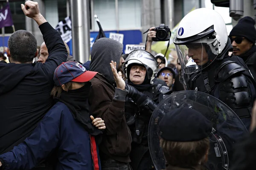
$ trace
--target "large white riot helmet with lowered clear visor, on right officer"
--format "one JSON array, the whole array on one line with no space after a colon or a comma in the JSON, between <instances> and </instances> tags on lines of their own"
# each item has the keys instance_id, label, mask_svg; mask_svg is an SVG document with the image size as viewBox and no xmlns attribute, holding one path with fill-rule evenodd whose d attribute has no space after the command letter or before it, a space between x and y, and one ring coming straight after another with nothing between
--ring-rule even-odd
<instances>
[{"instance_id":1,"label":"large white riot helmet with lowered clear visor, on right officer","mask_svg":"<svg viewBox=\"0 0 256 170\"><path fill-rule=\"evenodd\" d=\"M199 8L187 14L180 21L173 39L184 73L197 72L210 65L221 56L227 40L226 24L218 12ZM190 57L195 67L192 69L189 64L186 69Z\"/></svg>"}]
</instances>

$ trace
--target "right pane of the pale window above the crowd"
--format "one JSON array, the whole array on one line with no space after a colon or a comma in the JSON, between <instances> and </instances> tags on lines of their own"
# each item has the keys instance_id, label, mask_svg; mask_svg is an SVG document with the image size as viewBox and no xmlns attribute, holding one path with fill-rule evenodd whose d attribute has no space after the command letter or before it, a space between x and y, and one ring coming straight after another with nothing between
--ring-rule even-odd
<instances>
[{"instance_id":1,"label":"right pane of the pale window above the crowd","mask_svg":"<svg viewBox=\"0 0 256 170\"><path fill-rule=\"evenodd\" d=\"M141 1L140 0L118 0L119 28L141 27Z\"/></svg>"}]
</instances>

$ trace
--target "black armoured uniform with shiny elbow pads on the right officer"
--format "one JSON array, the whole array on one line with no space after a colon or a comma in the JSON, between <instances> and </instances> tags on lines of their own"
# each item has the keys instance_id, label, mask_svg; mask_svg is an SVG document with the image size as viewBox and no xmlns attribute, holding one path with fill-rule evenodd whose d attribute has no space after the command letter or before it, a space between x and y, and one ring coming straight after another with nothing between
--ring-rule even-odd
<instances>
[{"instance_id":1,"label":"black armoured uniform with shiny elbow pads on the right officer","mask_svg":"<svg viewBox=\"0 0 256 170\"><path fill-rule=\"evenodd\" d=\"M210 94L227 104L248 129L256 82L243 59L228 56L232 48L229 39L225 48L222 56L189 76L188 86L190 90Z\"/></svg>"}]
</instances>

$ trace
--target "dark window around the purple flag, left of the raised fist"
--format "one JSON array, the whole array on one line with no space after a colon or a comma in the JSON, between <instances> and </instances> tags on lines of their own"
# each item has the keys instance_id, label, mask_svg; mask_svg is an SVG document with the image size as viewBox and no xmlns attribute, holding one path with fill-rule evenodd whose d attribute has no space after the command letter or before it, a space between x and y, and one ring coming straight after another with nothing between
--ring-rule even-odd
<instances>
[{"instance_id":1,"label":"dark window around the purple flag, left of the raised fist","mask_svg":"<svg viewBox=\"0 0 256 170\"><path fill-rule=\"evenodd\" d=\"M13 20L13 24L15 26L15 30L20 30L20 29L24 29L26 30L26 24L25 24L25 15L20 7L20 4L24 3L24 0L20 0L20 1L9 1L10 4L10 8L11 8L11 13L12 13L12 20ZM1 6L5 6L6 2L1 2L0 3ZM13 33L13 29L12 27L5 27L5 34L12 34ZM0 29L0 34L2 34L2 29Z\"/></svg>"}]
</instances>

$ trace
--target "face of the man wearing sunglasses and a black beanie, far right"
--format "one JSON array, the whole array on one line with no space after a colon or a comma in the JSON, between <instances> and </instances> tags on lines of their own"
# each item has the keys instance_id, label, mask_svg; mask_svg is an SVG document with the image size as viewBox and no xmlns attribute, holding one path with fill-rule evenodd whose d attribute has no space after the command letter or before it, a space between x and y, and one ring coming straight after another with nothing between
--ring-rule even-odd
<instances>
[{"instance_id":1,"label":"face of the man wearing sunglasses and a black beanie, far right","mask_svg":"<svg viewBox=\"0 0 256 170\"><path fill-rule=\"evenodd\" d=\"M240 36L232 36L230 37L232 46L233 46L233 55L240 56L244 54L246 51L250 50L253 46L253 43L248 41L244 37Z\"/></svg>"}]
</instances>

